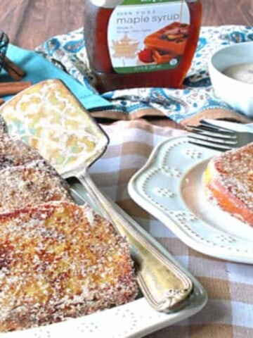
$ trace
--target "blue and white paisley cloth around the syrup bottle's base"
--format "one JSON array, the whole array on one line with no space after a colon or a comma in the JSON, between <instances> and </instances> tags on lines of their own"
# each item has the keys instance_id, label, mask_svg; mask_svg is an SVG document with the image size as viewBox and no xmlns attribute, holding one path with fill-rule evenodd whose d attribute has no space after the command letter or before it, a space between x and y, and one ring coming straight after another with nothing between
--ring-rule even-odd
<instances>
[{"instance_id":1,"label":"blue and white paisley cloth around the syrup bottle's base","mask_svg":"<svg viewBox=\"0 0 253 338\"><path fill-rule=\"evenodd\" d=\"M138 88L106 92L101 96L113 106L108 114L120 111L131 115L136 111L155 108L179 123L206 109L230 109L227 104L214 96L208 73L208 61L214 51L221 47L247 41L253 41L253 27L242 25L202 27L192 65L183 82L183 89ZM58 63L86 88L96 92L92 87L83 28L66 35L52 37L36 50L52 62Z\"/></svg>"}]
</instances>

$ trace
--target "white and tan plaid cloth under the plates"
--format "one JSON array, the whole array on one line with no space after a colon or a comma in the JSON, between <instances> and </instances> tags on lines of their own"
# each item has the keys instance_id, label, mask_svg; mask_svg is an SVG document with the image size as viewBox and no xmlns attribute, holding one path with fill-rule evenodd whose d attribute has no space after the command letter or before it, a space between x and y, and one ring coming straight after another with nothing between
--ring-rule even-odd
<instances>
[{"instance_id":1,"label":"white and tan plaid cloth under the plates","mask_svg":"<svg viewBox=\"0 0 253 338\"><path fill-rule=\"evenodd\" d=\"M186 266L209 296L202 311L146 338L253 337L253 266L222 261L190 249L127 193L129 179L144 165L153 147L183 131L144 120L118 121L102 127L110 137L110 145L90 169L94 182Z\"/></svg>"}]
</instances>

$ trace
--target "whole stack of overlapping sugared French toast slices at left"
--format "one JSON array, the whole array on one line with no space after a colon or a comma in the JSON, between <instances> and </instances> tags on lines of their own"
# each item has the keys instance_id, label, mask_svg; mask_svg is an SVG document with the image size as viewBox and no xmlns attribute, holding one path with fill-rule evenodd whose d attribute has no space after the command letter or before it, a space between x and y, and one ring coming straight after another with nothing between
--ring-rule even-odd
<instances>
[{"instance_id":1,"label":"whole stack of overlapping sugared French toast slices at left","mask_svg":"<svg viewBox=\"0 0 253 338\"><path fill-rule=\"evenodd\" d=\"M78 206L49 163L0 123L0 332L56 323L136 298L129 244Z\"/></svg>"}]
</instances>

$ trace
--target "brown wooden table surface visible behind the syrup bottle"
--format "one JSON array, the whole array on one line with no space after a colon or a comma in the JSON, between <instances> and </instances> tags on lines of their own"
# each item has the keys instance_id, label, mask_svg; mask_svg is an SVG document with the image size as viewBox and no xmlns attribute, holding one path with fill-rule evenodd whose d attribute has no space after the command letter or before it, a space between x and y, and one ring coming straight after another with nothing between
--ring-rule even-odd
<instances>
[{"instance_id":1,"label":"brown wooden table surface visible behind the syrup bottle","mask_svg":"<svg viewBox=\"0 0 253 338\"><path fill-rule=\"evenodd\" d=\"M233 3L233 5L231 5ZM253 25L252 0L202 0L202 25ZM84 0L1 0L0 30L27 49L83 25Z\"/></svg>"}]
</instances>

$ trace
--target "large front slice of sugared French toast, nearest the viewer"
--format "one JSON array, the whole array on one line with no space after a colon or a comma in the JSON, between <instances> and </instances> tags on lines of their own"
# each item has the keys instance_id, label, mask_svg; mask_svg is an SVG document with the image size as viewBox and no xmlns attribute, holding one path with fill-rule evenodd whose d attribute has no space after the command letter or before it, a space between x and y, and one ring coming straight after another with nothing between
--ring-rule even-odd
<instances>
[{"instance_id":1,"label":"large front slice of sugared French toast, nearest the viewer","mask_svg":"<svg viewBox=\"0 0 253 338\"><path fill-rule=\"evenodd\" d=\"M0 215L0 331L135 299L126 239L91 208L50 202Z\"/></svg>"}]
</instances>

